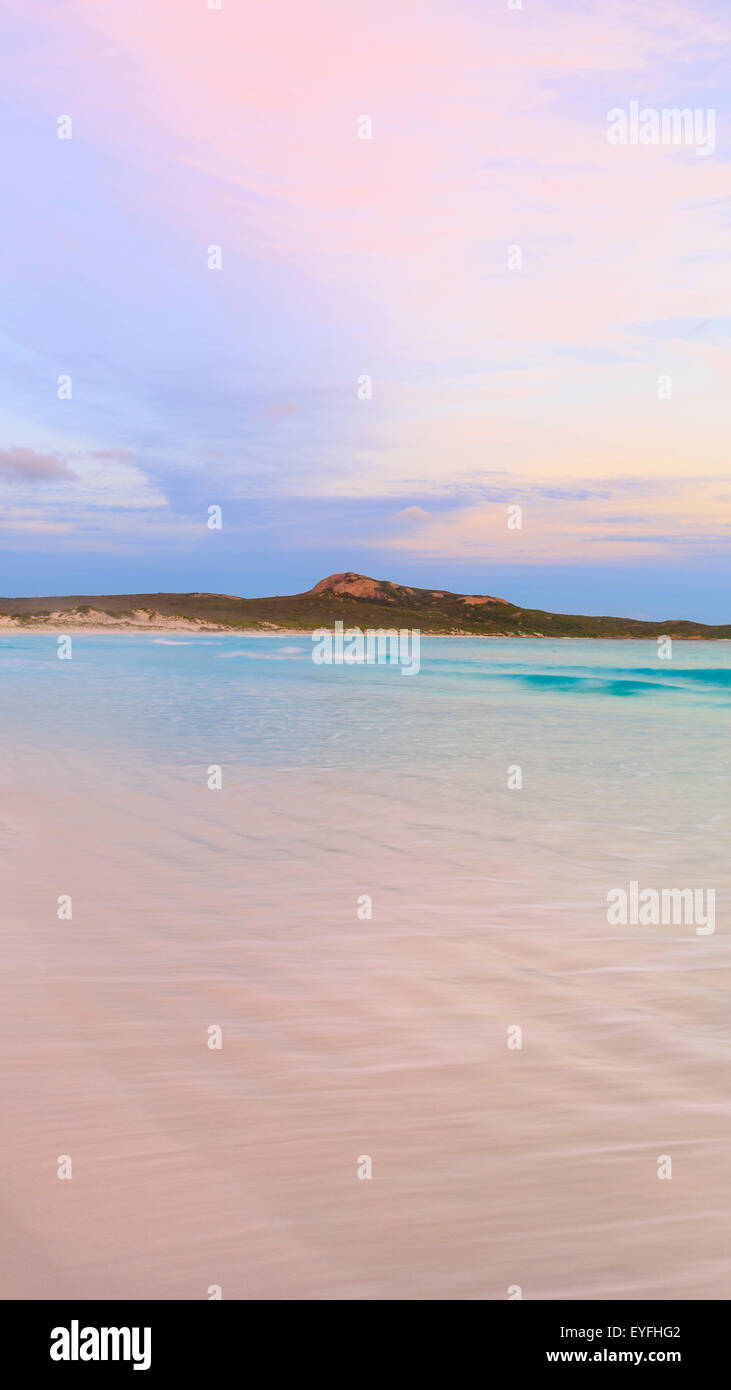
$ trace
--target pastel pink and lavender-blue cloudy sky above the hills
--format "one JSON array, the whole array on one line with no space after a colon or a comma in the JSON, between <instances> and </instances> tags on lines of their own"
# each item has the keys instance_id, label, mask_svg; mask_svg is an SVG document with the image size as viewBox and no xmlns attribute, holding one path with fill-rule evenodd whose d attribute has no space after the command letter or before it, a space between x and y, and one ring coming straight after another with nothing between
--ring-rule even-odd
<instances>
[{"instance_id":1,"label":"pastel pink and lavender-blue cloudy sky above the hills","mask_svg":"<svg viewBox=\"0 0 731 1390\"><path fill-rule=\"evenodd\" d=\"M0 24L0 592L731 621L727 0L210 4Z\"/></svg>"}]
</instances>

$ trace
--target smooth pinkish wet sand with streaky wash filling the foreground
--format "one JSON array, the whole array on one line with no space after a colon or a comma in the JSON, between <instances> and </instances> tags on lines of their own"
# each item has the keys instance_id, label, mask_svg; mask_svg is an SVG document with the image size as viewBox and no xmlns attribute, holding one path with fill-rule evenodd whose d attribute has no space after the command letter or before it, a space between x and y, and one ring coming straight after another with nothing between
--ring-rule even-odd
<instances>
[{"instance_id":1,"label":"smooth pinkish wet sand with streaky wash filling the foreground","mask_svg":"<svg viewBox=\"0 0 731 1390\"><path fill-rule=\"evenodd\" d=\"M731 1295L723 922L609 927L606 863L375 773L50 758L3 774L3 1298Z\"/></svg>"}]
</instances>

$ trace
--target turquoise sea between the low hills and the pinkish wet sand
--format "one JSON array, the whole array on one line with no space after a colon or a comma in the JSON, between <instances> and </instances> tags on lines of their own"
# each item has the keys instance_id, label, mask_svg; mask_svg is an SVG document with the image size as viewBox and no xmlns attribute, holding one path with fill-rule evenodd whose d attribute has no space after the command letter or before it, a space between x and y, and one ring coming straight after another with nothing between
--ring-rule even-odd
<instances>
[{"instance_id":1,"label":"turquoise sea between the low hills and the pinkish wet sand","mask_svg":"<svg viewBox=\"0 0 731 1390\"><path fill-rule=\"evenodd\" d=\"M206 769L334 773L442 835L573 863L725 865L731 645L427 638L421 670L315 666L311 639L0 637L6 764L50 784L90 755L111 788ZM520 767L520 795L509 769ZM110 791L111 795L111 791ZM700 880L705 881L705 880Z\"/></svg>"}]
</instances>

